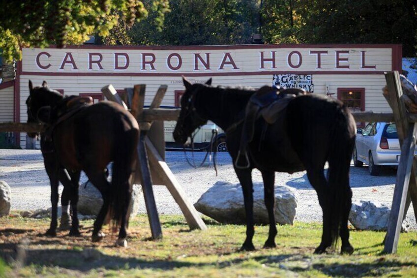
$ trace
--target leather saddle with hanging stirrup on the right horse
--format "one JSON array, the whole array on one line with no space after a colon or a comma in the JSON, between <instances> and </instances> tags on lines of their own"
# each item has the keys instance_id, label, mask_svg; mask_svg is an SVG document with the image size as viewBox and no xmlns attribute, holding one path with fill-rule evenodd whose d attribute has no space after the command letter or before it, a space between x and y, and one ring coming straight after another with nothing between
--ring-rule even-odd
<instances>
[{"instance_id":1,"label":"leather saddle with hanging stirrup on the right horse","mask_svg":"<svg viewBox=\"0 0 417 278\"><path fill-rule=\"evenodd\" d=\"M250 166L247 145L253 139L256 120L262 117L268 124L275 123L288 103L296 96L303 94L306 92L302 89L264 86L249 98L245 109L238 157L235 161L236 168L247 169Z\"/></svg>"}]
</instances>

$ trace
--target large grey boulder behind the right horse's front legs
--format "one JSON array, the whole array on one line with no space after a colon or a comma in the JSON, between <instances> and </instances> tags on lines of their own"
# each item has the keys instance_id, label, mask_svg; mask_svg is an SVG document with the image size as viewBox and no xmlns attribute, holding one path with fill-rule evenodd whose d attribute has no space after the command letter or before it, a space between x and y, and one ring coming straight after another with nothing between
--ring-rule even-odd
<instances>
[{"instance_id":1,"label":"large grey boulder behind the right horse's front legs","mask_svg":"<svg viewBox=\"0 0 417 278\"><path fill-rule=\"evenodd\" d=\"M269 224L264 201L264 184L253 184L253 216L255 223ZM197 211L221 223L245 224L246 215L240 184L217 182L194 204ZM288 186L275 186L275 221L293 224L297 197Z\"/></svg>"}]
</instances>

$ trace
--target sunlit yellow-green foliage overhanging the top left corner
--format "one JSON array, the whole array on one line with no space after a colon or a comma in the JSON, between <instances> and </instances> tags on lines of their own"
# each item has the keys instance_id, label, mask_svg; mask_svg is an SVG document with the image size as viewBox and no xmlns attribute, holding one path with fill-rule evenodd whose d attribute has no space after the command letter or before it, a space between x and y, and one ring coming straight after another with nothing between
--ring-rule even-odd
<instances>
[{"instance_id":1,"label":"sunlit yellow-green foliage overhanging the top left corner","mask_svg":"<svg viewBox=\"0 0 417 278\"><path fill-rule=\"evenodd\" d=\"M169 7L168 0L153 2L160 9L159 15ZM148 15L139 0L2 0L0 3L0 48L6 61L20 60L20 47L80 44L95 33L106 37L117 25L116 10L129 26Z\"/></svg>"}]
</instances>

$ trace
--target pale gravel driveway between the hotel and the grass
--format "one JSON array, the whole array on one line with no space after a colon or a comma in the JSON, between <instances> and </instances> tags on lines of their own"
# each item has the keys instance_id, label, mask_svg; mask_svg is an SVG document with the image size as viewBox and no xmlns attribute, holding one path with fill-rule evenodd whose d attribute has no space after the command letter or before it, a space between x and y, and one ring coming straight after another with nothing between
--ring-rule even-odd
<instances>
[{"instance_id":1,"label":"pale gravel driveway between the hotel and the grass","mask_svg":"<svg viewBox=\"0 0 417 278\"><path fill-rule=\"evenodd\" d=\"M202 161L204 154L194 153L196 162ZM191 157L191 154L188 156ZM217 154L217 177L212 163L207 162L203 167L194 169L188 165L182 152L167 152L166 161L192 203L195 203L216 181L238 183L228 153ZM12 210L35 210L51 206L49 179L39 150L0 150L0 180L4 180L11 187ZM87 178L83 175L81 182L85 181ZM253 181L262 182L261 173L257 170L253 172ZM366 166L355 168L352 164L350 181L353 201L378 201L390 206L395 184L394 169L383 169L380 176L373 177L368 174ZM309 184L306 172L276 173L275 184L288 185L297 190L296 220L304 222L322 220L317 194ZM61 190L62 186L60 192ZM181 214L179 206L165 186L154 186L154 194L160 214ZM144 202L142 204L140 212L144 213L145 204ZM408 217L411 227L416 229L412 208L408 211Z\"/></svg>"}]
</instances>

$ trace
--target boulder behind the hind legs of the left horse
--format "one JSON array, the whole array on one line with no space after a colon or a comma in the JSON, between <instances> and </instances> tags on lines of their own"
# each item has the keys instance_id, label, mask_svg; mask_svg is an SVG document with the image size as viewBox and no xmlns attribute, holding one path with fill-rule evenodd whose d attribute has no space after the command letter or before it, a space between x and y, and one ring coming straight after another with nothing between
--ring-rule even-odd
<instances>
[{"instance_id":1,"label":"boulder behind the hind legs of the left horse","mask_svg":"<svg viewBox=\"0 0 417 278\"><path fill-rule=\"evenodd\" d=\"M103 198L100 191L90 182L80 185L78 199L78 212L82 215L97 216L101 206L103 205ZM141 185L133 185L132 199L128 211L129 216L135 216L139 212L139 204L142 194Z\"/></svg>"}]
</instances>

